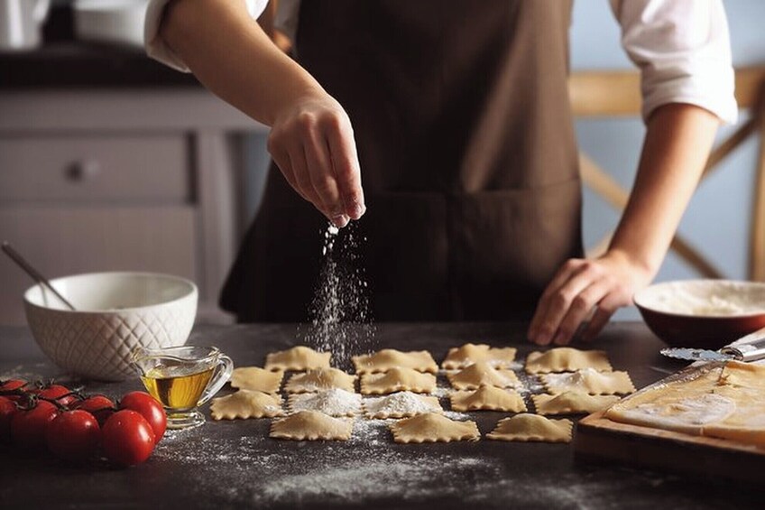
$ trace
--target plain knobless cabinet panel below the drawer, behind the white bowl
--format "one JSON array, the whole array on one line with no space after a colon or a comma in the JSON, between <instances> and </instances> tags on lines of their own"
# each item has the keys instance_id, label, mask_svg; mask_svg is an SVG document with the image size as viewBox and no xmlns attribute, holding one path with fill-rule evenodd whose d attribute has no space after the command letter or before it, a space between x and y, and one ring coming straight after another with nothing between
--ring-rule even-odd
<instances>
[{"instance_id":1,"label":"plain knobless cabinet panel below the drawer, behind the white bowl","mask_svg":"<svg viewBox=\"0 0 765 510\"><path fill-rule=\"evenodd\" d=\"M0 209L0 239L42 274L149 271L198 281L196 211L172 207ZM0 255L0 324L23 324L23 292L33 282Z\"/></svg>"}]
</instances>

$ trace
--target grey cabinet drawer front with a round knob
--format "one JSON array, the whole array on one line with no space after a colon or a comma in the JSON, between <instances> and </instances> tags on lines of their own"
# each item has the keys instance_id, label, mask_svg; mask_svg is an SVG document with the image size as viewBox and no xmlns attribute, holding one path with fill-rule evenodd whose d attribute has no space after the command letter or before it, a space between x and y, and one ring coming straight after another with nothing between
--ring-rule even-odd
<instances>
[{"instance_id":1,"label":"grey cabinet drawer front with a round knob","mask_svg":"<svg viewBox=\"0 0 765 510\"><path fill-rule=\"evenodd\" d=\"M0 138L0 201L189 201L182 134Z\"/></svg>"}]
</instances>

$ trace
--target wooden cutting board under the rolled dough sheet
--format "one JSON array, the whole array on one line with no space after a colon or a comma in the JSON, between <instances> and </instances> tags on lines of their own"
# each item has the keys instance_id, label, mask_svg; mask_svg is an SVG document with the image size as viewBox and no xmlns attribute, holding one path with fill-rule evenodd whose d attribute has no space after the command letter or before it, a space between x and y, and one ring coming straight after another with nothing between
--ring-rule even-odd
<instances>
[{"instance_id":1,"label":"wooden cutting board under the rolled dough sheet","mask_svg":"<svg viewBox=\"0 0 765 510\"><path fill-rule=\"evenodd\" d=\"M765 450L732 440L612 422L604 412L576 425L577 460L616 462L701 478L762 483Z\"/></svg>"}]
</instances>

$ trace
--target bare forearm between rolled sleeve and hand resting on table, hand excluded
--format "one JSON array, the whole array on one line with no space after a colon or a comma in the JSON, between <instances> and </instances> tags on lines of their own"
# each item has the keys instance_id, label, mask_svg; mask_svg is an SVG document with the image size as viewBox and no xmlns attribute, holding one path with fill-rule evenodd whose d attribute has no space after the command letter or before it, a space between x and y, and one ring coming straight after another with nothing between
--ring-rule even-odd
<instances>
[{"instance_id":1,"label":"bare forearm between rolled sleeve and hand resting on table, hand excluded","mask_svg":"<svg viewBox=\"0 0 765 510\"><path fill-rule=\"evenodd\" d=\"M659 271L696 190L719 121L707 110L670 104L650 117L637 178L610 250L649 274Z\"/></svg>"}]
</instances>

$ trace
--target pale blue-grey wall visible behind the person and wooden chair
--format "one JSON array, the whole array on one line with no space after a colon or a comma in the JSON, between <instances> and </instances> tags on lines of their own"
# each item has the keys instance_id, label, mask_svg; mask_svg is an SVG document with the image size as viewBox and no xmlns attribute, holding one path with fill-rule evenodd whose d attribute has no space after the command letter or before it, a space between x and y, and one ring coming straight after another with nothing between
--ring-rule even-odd
<instances>
[{"instance_id":1,"label":"pale blue-grey wall visible behind the person and wooden chair","mask_svg":"<svg viewBox=\"0 0 765 510\"><path fill-rule=\"evenodd\" d=\"M695 1L695 0L679 0ZM737 66L758 64L765 60L765 39L762 22L765 2L761 0L726 0L733 46L733 61ZM571 58L575 70L630 69L619 44L619 26L613 18L607 0L578 0L575 2L574 23L571 27ZM742 112L739 122L746 118ZM724 126L721 134L730 133L734 126ZM634 178L643 135L639 119L579 121L576 133L581 147L613 177L629 187ZM268 162L264 150L265 137L253 136L247 141L247 153L253 172L248 179L250 197L248 214L253 214L263 189L263 169ZM696 191L680 225L680 232L699 248L726 277L746 277L747 239L751 210L751 186L757 144L749 140L724 162ZM585 190L585 245L593 246L616 226L618 214L593 192ZM692 269L673 254L661 267L657 281L698 277ZM636 319L634 309L617 314L619 319Z\"/></svg>"}]
</instances>

